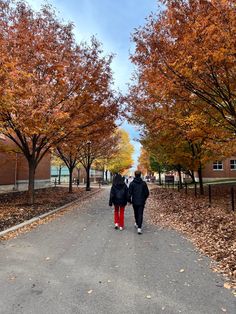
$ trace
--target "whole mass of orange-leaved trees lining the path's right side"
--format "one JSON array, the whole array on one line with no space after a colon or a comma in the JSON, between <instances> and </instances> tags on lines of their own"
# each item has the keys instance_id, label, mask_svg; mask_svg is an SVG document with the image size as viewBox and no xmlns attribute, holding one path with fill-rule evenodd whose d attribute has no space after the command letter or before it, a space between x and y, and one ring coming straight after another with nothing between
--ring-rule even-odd
<instances>
[{"instance_id":1,"label":"whole mass of orange-leaved trees lining the path's right side","mask_svg":"<svg viewBox=\"0 0 236 314\"><path fill-rule=\"evenodd\" d=\"M137 66L131 121L161 165L194 179L212 159L236 151L236 4L166 0L133 34Z\"/></svg>"}]
</instances>

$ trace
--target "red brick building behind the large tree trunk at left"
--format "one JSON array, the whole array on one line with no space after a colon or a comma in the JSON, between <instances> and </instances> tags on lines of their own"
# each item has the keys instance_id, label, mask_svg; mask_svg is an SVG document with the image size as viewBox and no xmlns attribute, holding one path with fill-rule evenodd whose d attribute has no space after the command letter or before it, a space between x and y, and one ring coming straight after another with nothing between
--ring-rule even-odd
<instances>
[{"instance_id":1,"label":"red brick building behind the large tree trunk at left","mask_svg":"<svg viewBox=\"0 0 236 314\"><path fill-rule=\"evenodd\" d=\"M28 162L22 153L7 152L4 147L14 147L12 141L0 138L0 191L26 190L28 188ZM50 181L50 155L45 156L35 173L35 187L46 187Z\"/></svg>"}]
</instances>

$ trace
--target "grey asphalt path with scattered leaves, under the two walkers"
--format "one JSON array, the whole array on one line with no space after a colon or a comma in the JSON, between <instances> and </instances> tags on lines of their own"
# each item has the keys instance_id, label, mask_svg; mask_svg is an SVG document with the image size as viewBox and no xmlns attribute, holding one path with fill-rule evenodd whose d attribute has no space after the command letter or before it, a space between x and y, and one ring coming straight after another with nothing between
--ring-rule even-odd
<instances>
[{"instance_id":1,"label":"grey asphalt path with scattered leaves, under the two walkers","mask_svg":"<svg viewBox=\"0 0 236 314\"><path fill-rule=\"evenodd\" d=\"M2 314L236 313L209 260L174 231L113 228L107 188L78 208L0 243Z\"/></svg>"}]
</instances>

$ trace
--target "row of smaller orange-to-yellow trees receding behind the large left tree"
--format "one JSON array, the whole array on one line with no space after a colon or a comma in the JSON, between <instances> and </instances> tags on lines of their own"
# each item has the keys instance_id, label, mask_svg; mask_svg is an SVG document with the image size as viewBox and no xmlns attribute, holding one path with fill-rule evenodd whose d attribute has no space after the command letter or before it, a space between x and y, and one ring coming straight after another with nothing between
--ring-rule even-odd
<instances>
[{"instance_id":1,"label":"row of smaller orange-to-yellow trees receding behind the large left tree","mask_svg":"<svg viewBox=\"0 0 236 314\"><path fill-rule=\"evenodd\" d=\"M72 192L72 174L75 168L84 167L87 174L87 189L89 189L89 173L93 166L103 170L107 180L107 171L111 174L125 173L133 163L133 145L128 133L116 129L110 136L104 136L104 131L93 133L91 140L73 137L71 142L63 142L53 151L54 164L66 166L69 170L69 192Z\"/></svg>"}]
</instances>

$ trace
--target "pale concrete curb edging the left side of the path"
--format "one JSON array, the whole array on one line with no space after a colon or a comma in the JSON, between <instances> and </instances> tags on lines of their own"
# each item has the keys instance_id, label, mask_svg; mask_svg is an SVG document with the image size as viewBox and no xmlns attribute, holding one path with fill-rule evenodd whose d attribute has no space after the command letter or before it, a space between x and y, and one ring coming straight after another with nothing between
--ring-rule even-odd
<instances>
[{"instance_id":1,"label":"pale concrete curb edging the left side of the path","mask_svg":"<svg viewBox=\"0 0 236 314\"><path fill-rule=\"evenodd\" d=\"M63 205L61 207L55 208L55 209L53 209L53 210L51 210L51 211L49 211L49 212L47 212L45 214L42 214L42 215L39 215L37 217L31 218L29 220L26 220L26 221L20 223L19 225L16 225L16 226L10 227L10 228L8 228L6 230L3 230L3 231L0 232L0 237L5 236L9 232L13 232L13 231L16 231L16 230L18 230L18 229L20 229L22 227L30 225L33 222L36 222L36 221L38 221L40 219L48 217L48 216L50 216L50 215L52 215L52 214L54 214L54 213L56 213L56 212L58 212L58 211L60 211L62 209L65 209L66 207L69 207L69 206L71 206L71 205L73 205L73 204L75 204L75 203L77 203L79 201L83 201L83 200L89 198L90 196L93 196L93 195L99 193L100 191L102 191L102 190L100 189L100 190L94 191L93 193L90 193L89 195L84 195L83 197L81 197L81 198L79 198L77 200L74 200L74 201L72 201L70 203L67 203L67 204L65 204L65 205Z\"/></svg>"}]
</instances>

